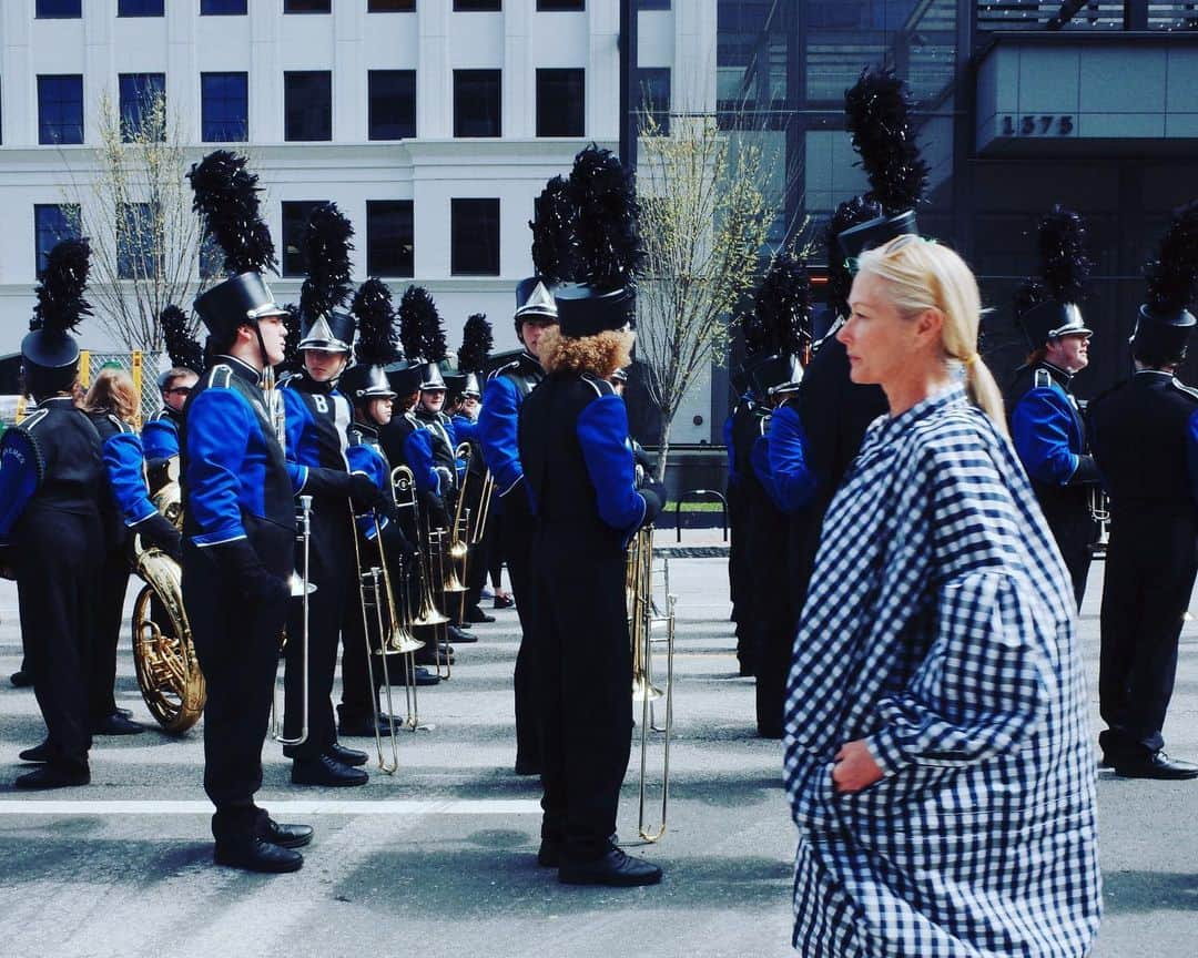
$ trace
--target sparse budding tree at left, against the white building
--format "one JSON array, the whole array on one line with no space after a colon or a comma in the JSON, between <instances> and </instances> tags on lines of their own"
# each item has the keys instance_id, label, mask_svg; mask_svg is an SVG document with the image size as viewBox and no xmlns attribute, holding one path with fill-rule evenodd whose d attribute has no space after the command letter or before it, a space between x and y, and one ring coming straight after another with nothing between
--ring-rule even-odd
<instances>
[{"instance_id":1,"label":"sparse budding tree at left, against the white building","mask_svg":"<svg viewBox=\"0 0 1198 958\"><path fill-rule=\"evenodd\" d=\"M101 98L96 168L69 192L75 225L91 240L96 321L126 348L157 352L162 311L189 313L206 284L204 236L184 176L192 157L182 125L162 91L149 91L139 105L121 116L107 93Z\"/></svg>"}]
</instances>

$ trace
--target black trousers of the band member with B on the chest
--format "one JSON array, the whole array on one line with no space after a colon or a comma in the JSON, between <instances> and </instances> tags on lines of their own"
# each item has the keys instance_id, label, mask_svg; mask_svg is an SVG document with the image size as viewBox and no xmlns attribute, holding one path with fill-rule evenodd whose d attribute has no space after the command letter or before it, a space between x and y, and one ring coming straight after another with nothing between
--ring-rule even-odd
<instances>
[{"instance_id":1,"label":"black trousers of the band member with B on the chest","mask_svg":"<svg viewBox=\"0 0 1198 958\"><path fill-rule=\"evenodd\" d=\"M292 756L316 757L337 741L333 721L333 674L341 623L353 566L350 505L345 499L323 499L313 507L309 582L316 590L308 596L308 738L291 746ZM296 570L303 575L303 546L296 546ZM298 738L303 728L303 600L291 602L285 649L283 735Z\"/></svg>"}]
</instances>

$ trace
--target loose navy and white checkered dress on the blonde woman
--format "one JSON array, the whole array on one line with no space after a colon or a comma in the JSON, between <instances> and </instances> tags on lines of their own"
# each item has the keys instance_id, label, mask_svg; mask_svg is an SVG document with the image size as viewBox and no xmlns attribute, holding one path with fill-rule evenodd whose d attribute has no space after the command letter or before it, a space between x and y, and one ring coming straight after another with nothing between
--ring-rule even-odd
<instances>
[{"instance_id":1,"label":"loose navy and white checkered dress on the blonde woman","mask_svg":"<svg viewBox=\"0 0 1198 958\"><path fill-rule=\"evenodd\" d=\"M1085 954L1101 901L1073 617L1023 468L961 386L870 428L787 685L799 952ZM885 777L835 795L857 739Z\"/></svg>"}]
</instances>

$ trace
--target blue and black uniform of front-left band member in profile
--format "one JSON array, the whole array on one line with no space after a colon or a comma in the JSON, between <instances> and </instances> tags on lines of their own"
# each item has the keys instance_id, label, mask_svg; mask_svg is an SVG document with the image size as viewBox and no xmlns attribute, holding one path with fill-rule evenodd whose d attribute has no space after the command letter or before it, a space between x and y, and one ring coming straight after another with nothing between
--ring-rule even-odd
<instances>
[{"instance_id":1,"label":"blue and black uniform of front-left band member in profile","mask_svg":"<svg viewBox=\"0 0 1198 958\"><path fill-rule=\"evenodd\" d=\"M222 356L188 396L180 432L183 602L207 681L204 788L218 848L266 824L254 793L305 479L274 430L258 370Z\"/></svg>"}]
</instances>

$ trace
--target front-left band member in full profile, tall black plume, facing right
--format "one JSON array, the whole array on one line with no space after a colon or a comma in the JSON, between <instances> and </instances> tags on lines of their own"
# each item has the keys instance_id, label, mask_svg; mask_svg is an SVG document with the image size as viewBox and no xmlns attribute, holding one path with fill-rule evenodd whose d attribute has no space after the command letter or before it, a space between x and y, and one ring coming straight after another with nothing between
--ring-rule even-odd
<instances>
[{"instance_id":1,"label":"front-left band member in full profile, tall black plume, facing right","mask_svg":"<svg viewBox=\"0 0 1198 958\"><path fill-rule=\"evenodd\" d=\"M295 872L307 825L282 825L254 804L262 783L279 641L295 569L295 491L282 401L264 394L286 345L283 317L258 269L274 263L259 216L258 177L217 150L188 174L204 228L234 273L195 301L212 366L184 406L183 604L207 681L204 789L216 814L214 859L253 872Z\"/></svg>"}]
</instances>

